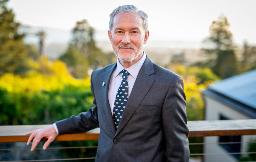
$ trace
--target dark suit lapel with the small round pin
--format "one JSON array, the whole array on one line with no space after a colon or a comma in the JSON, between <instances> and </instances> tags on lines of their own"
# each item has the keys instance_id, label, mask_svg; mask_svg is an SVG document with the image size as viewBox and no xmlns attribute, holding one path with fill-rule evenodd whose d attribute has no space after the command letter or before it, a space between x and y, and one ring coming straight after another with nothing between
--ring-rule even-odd
<instances>
[{"instance_id":1,"label":"dark suit lapel with the small round pin","mask_svg":"<svg viewBox=\"0 0 256 162\"><path fill-rule=\"evenodd\" d=\"M106 72L102 75L102 82L105 82L105 86L102 86L102 102L103 102L103 106L104 106L104 111L106 113L106 117L107 117L107 120L108 120L108 123L109 123L109 126L111 128L111 131L113 133L113 135L115 135L115 125L114 125L114 122L113 122L113 117L112 117L112 113L111 113L111 109L110 109L110 105L109 105L109 84L110 84L110 78L111 78L111 75L114 71L116 67L116 63L112 64L111 66L109 66L107 69L106 69Z\"/></svg>"}]
</instances>

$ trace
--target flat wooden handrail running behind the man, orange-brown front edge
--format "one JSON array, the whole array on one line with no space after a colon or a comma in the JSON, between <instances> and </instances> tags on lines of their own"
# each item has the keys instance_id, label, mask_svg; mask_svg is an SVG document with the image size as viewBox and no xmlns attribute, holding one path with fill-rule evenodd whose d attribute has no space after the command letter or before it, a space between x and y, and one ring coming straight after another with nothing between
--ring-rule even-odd
<instances>
[{"instance_id":1,"label":"flat wooden handrail running behind the man, orange-brown front edge","mask_svg":"<svg viewBox=\"0 0 256 162\"><path fill-rule=\"evenodd\" d=\"M26 142L26 132L50 125L0 126L0 143ZM188 121L189 137L256 135L256 119ZM59 135L55 141L98 140L99 128L88 132ZM43 139L42 141L45 141Z\"/></svg>"}]
</instances>

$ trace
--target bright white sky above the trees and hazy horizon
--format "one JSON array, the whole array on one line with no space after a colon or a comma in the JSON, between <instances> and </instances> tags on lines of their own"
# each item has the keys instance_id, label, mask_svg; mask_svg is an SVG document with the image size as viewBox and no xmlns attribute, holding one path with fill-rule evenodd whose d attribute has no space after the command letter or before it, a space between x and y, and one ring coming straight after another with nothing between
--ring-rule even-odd
<instances>
[{"instance_id":1,"label":"bright white sky above the trees and hazy horizon","mask_svg":"<svg viewBox=\"0 0 256 162\"><path fill-rule=\"evenodd\" d=\"M120 5L132 4L148 14L149 41L194 42L209 35L211 22L223 13L231 24L234 42L256 45L255 0L10 0L15 19L35 27L71 30L87 19L97 31L109 29L109 14Z\"/></svg>"}]
</instances>

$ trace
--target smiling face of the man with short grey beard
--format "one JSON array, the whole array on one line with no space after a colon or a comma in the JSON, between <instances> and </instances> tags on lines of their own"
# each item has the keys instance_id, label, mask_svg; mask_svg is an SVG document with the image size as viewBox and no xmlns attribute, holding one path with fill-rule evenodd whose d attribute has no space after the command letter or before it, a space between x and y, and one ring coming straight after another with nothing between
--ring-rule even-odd
<instances>
[{"instance_id":1,"label":"smiling face of the man with short grey beard","mask_svg":"<svg viewBox=\"0 0 256 162\"><path fill-rule=\"evenodd\" d=\"M145 32L143 20L139 14L121 12L113 19L109 39L120 62L137 62L143 55L143 44L147 42L149 32Z\"/></svg>"}]
</instances>

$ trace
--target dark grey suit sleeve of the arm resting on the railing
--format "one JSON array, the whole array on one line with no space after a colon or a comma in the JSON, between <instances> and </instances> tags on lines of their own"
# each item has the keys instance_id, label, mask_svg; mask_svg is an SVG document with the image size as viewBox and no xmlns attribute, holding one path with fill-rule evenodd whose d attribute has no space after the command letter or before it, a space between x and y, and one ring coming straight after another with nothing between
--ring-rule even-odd
<instances>
[{"instance_id":1,"label":"dark grey suit sleeve of the arm resting on the railing","mask_svg":"<svg viewBox=\"0 0 256 162\"><path fill-rule=\"evenodd\" d=\"M95 104L95 106L93 106L86 112L80 113L77 116L72 115L70 118L55 122L58 128L59 135L75 132L86 132L99 127L97 103L93 90L93 73L91 75L91 91L94 96L93 103Z\"/></svg>"}]
</instances>

